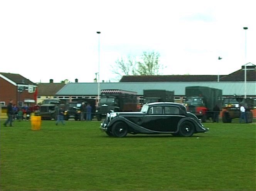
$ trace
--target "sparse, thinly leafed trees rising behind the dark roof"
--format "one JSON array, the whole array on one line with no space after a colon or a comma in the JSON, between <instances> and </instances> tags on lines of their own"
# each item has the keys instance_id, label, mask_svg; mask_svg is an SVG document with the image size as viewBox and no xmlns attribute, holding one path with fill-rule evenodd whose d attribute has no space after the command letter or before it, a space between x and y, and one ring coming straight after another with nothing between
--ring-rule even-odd
<instances>
[{"instance_id":1,"label":"sparse, thinly leafed trees rising behind the dark roof","mask_svg":"<svg viewBox=\"0 0 256 191\"><path fill-rule=\"evenodd\" d=\"M159 64L160 54L158 52L143 52L140 61L136 61L135 56L122 57L116 60L115 67L112 72L117 74L118 77L123 75L158 75L159 70L163 68Z\"/></svg>"}]
</instances>

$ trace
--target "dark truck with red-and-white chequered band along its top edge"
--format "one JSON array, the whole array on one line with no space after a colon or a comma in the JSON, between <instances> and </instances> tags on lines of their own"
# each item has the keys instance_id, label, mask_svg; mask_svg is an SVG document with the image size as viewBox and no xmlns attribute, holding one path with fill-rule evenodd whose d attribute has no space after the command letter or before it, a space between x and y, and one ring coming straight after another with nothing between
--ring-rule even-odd
<instances>
[{"instance_id":1,"label":"dark truck with red-and-white chequered band along its top edge","mask_svg":"<svg viewBox=\"0 0 256 191\"><path fill-rule=\"evenodd\" d=\"M137 111L137 92L105 89L101 90L99 105L96 108L96 117L101 121L109 111L126 112Z\"/></svg>"}]
</instances>

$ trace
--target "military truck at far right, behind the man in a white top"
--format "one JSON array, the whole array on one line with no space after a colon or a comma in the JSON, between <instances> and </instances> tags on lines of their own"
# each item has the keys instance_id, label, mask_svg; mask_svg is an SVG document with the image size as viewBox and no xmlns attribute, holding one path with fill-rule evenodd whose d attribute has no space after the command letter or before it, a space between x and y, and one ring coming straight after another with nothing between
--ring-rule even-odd
<instances>
[{"instance_id":1,"label":"military truck at far right, behind the man in a white top","mask_svg":"<svg viewBox=\"0 0 256 191\"><path fill-rule=\"evenodd\" d=\"M224 97L222 107L222 122L231 123L232 119L240 117L240 104L244 106L247 122L253 122L254 100L242 96Z\"/></svg>"}]
</instances>

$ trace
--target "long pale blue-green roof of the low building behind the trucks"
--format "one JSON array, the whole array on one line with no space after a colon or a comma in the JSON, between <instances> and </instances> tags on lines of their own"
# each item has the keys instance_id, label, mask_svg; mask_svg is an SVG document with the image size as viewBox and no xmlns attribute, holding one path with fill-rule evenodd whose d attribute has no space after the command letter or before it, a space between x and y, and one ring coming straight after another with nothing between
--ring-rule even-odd
<instances>
[{"instance_id":1,"label":"long pale blue-green roof of the low building behind the trucks","mask_svg":"<svg viewBox=\"0 0 256 191\"><path fill-rule=\"evenodd\" d=\"M174 91L174 95L185 95L185 87L188 86L207 86L222 90L222 95L244 95L244 82L107 82L99 83L99 89L121 89L137 92L137 95L143 95L144 89L165 89ZM256 95L255 82L246 83L246 94ZM55 95L72 96L98 94L98 83L68 83Z\"/></svg>"}]
</instances>

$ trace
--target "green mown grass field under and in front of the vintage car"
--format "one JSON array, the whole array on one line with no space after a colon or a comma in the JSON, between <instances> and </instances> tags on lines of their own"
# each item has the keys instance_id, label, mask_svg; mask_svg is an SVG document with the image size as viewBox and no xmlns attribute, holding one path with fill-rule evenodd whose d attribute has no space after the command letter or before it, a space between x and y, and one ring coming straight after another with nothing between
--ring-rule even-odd
<instances>
[{"instance_id":1,"label":"green mown grass field under and in front of the vintage car","mask_svg":"<svg viewBox=\"0 0 256 191\"><path fill-rule=\"evenodd\" d=\"M1 191L255 191L256 124L192 137L108 137L98 121L0 121Z\"/></svg>"}]
</instances>

